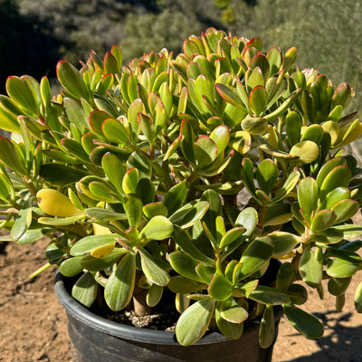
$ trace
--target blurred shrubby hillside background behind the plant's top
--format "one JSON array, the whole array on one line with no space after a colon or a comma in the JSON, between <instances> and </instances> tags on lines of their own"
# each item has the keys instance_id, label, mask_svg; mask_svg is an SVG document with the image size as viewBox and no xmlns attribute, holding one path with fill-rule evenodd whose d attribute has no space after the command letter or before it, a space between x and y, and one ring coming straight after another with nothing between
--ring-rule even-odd
<instances>
[{"instance_id":1,"label":"blurred shrubby hillside background behind the plant's top","mask_svg":"<svg viewBox=\"0 0 362 362\"><path fill-rule=\"evenodd\" d=\"M9 75L52 81L58 60L85 62L119 44L125 63L163 47L178 53L210 26L262 39L263 49L296 46L296 64L318 69L362 107L360 0L0 0L0 93ZM55 81L53 81L55 84ZM55 88L56 86L54 86ZM353 148L358 155L362 142ZM359 157L359 161L362 157Z\"/></svg>"}]
</instances>

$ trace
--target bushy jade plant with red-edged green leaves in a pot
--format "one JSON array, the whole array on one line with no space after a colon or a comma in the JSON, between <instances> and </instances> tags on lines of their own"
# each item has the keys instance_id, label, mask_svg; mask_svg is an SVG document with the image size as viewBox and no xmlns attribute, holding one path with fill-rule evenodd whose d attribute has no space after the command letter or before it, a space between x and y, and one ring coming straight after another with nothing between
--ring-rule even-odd
<instances>
[{"instance_id":1,"label":"bushy jade plant with red-edged green leaves in a pot","mask_svg":"<svg viewBox=\"0 0 362 362\"><path fill-rule=\"evenodd\" d=\"M150 313L173 293L176 338L190 345L214 325L240 338L257 319L274 340L273 307L310 338L319 319L306 286L342 310L362 269L353 224L361 170L344 148L362 134L354 91L293 64L293 47L214 28L183 52L129 64L113 46L49 81L11 76L0 96L3 240L33 243L82 305ZM281 260L271 282L272 259ZM322 282L324 280L328 280ZM362 312L362 283L355 294ZM215 322L215 323L214 323Z\"/></svg>"}]
</instances>

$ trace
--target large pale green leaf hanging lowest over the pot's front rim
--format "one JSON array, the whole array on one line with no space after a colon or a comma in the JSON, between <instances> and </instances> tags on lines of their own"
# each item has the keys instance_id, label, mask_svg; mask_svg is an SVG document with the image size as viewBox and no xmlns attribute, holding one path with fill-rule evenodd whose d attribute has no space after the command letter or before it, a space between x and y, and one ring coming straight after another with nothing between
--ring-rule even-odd
<instances>
[{"instance_id":1,"label":"large pale green leaf hanging lowest over the pot's front rim","mask_svg":"<svg viewBox=\"0 0 362 362\"><path fill-rule=\"evenodd\" d=\"M182 346L190 346L202 338L214 314L214 300L198 300L177 320L176 338Z\"/></svg>"}]
</instances>

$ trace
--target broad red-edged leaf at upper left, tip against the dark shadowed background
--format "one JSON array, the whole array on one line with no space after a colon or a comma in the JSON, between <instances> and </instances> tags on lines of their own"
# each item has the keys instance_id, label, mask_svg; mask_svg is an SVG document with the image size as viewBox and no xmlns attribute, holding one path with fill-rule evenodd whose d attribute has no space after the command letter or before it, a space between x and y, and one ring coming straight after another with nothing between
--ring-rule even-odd
<instances>
[{"instance_id":1,"label":"broad red-edged leaf at upper left, tip against the dark shadowed background","mask_svg":"<svg viewBox=\"0 0 362 362\"><path fill-rule=\"evenodd\" d=\"M88 100L88 90L83 77L70 62L60 61L57 64L57 76L62 86L77 99Z\"/></svg>"}]
</instances>

